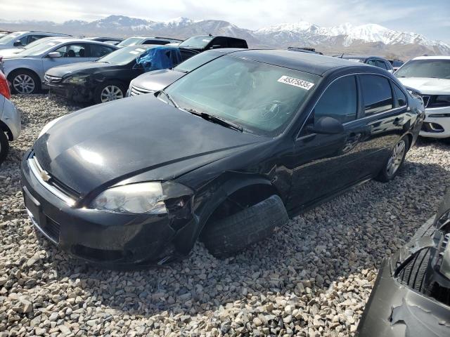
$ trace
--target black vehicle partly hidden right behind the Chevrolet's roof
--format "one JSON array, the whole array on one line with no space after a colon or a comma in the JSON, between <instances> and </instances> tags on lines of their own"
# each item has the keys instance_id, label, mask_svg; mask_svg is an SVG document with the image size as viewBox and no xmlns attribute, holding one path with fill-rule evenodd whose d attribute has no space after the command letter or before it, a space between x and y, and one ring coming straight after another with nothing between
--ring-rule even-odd
<instances>
[{"instance_id":1,"label":"black vehicle partly hidden right behind the Chevrolet's roof","mask_svg":"<svg viewBox=\"0 0 450 337\"><path fill-rule=\"evenodd\" d=\"M200 35L190 37L179 44L181 47L192 48L195 51L207 51L217 48L248 48L247 41L236 37L213 37L210 35Z\"/></svg>"}]
</instances>

